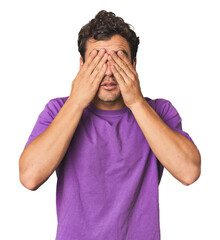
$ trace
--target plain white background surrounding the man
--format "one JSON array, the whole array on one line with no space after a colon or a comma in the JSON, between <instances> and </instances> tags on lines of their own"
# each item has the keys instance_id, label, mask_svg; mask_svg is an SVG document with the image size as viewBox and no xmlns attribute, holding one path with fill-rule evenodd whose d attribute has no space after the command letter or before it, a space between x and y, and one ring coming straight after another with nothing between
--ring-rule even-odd
<instances>
[{"instance_id":1,"label":"plain white background surrounding the man","mask_svg":"<svg viewBox=\"0 0 220 240\"><path fill-rule=\"evenodd\" d=\"M172 102L202 155L201 177L190 186L164 171L161 239L220 239L220 6L213 0L1 1L0 239L55 239L56 176L31 192L19 182L18 161L45 104L69 95L78 32L102 9L134 26L143 95Z\"/></svg>"}]
</instances>

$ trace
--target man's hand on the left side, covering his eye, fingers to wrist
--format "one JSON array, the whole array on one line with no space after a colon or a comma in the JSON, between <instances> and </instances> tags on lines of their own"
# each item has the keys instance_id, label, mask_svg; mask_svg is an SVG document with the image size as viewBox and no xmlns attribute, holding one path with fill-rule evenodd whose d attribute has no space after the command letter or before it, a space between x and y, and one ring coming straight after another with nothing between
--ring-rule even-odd
<instances>
[{"instance_id":1,"label":"man's hand on the left side, covering his eye, fingers to wrist","mask_svg":"<svg viewBox=\"0 0 220 240\"><path fill-rule=\"evenodd\" d=\"M86 108L93 100L107 69L105 49L93 50L72 82L69 98L74 104Z\"/></svg>"}]
</instances>

